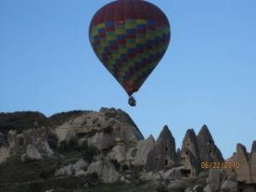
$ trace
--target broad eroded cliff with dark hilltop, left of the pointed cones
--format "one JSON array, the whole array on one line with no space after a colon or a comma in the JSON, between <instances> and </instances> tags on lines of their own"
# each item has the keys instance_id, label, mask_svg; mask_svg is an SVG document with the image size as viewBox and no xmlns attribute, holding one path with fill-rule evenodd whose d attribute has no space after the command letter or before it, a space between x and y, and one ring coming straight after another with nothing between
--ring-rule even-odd
<instances>
[{"instance_id":1,"label":"broad eroded cliff with dark hilltop, left of the pointed cones","mask_svg":"<svg viewBox=\"0 0 256 192\"><path fill-rule=\"evenodd\" d=\"M129 115L113 108L58 113L49 118L32 112L1 115L0 127L5 134L0 135L0 162L12 155L21 160L42 159L53 155L55 149L86 146L107 153L110 160L125 163L127 152L143 140Z\"/></svg>"}]
</instances>

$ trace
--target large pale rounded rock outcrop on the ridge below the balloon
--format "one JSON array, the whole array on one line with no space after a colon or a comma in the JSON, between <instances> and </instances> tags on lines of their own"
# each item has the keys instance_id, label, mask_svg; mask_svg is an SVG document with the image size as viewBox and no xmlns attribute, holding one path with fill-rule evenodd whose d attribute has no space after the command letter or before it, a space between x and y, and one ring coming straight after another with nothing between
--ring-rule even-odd
<instances>
[{"instance_id":1,"label":"large pale rounded rock outcrop on the ridge below the balloon","mask_svg":"<svg viewBox=\"0 0 256 192\"><path fill-rule=\"evenodd\" d=\"M57 126L55 134L59 145L76 139L79 146L86 143L100 151L108 151L108 158L119 163L127 163L127 152L143 139L130 117L113 108L80 113Z\"/></svg>"}]
</instances>

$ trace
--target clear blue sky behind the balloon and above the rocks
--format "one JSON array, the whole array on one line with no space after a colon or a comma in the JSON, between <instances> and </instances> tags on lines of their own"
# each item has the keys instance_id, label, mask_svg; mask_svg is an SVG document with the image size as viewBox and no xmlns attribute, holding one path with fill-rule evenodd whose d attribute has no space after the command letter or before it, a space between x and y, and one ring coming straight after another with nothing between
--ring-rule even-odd
<instances>
[{"instance_id":1,"label":"clear blue sky behind the balloon and above the rocks","mask_svg":"<svg viewBox=\"0 0 256 192\"><path fill-rule=\"evenodd\" d=\"M107 0L0 0L0 112L121 108L144 137L206 124L225 158L256 139L256 1L151 0L168 17L166 55L127 104L90 47Z\"/></svg>"}]
</instances>

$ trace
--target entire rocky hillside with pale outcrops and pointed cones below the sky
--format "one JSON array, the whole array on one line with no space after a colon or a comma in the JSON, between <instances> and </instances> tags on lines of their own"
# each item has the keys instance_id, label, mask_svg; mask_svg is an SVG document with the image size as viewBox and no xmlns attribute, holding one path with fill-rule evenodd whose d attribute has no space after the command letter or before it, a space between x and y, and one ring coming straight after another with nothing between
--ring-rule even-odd
<instances>
[{"instance_id":1,"label":"entire rocky hillside with pale outcrops and pointed cones below the sky","mask_svg":"<svg viewBox=\"0 0 256 192\"><path fill-rule=\"evenodd\" d=\"M177 148L167 125L144 139L114 108L0 113L0 192L253 192L255 165L255 141L224 160L207 125Z\"/></svg>"}]
</instances>

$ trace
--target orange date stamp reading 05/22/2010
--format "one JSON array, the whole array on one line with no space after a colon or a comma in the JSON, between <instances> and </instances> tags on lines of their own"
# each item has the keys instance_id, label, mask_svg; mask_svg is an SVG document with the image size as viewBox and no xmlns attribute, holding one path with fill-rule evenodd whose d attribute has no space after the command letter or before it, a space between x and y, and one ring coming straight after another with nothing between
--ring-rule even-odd
<instances>
[{"instance_id":1,"label":"orange date stamp reading 05/22/2010","mask_svg":"<svg viewBox=\"0 0 256 192\"><path fill-rule=\"evenodd\" d=\"M202 161L201 169L239 169L240 163L236 161L210 162Z\"/></svg>"}]
</instances>

